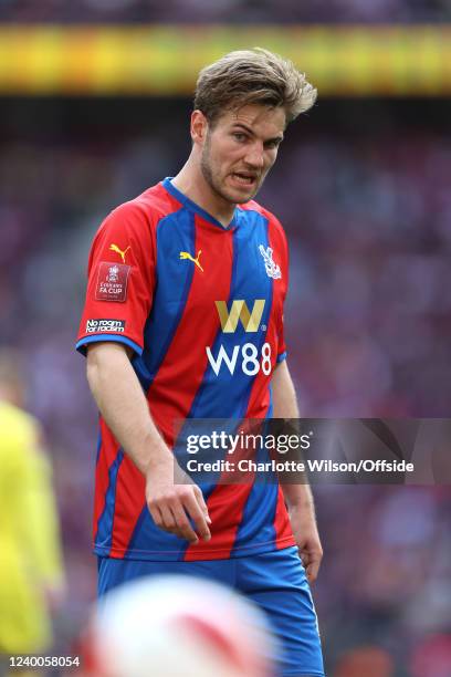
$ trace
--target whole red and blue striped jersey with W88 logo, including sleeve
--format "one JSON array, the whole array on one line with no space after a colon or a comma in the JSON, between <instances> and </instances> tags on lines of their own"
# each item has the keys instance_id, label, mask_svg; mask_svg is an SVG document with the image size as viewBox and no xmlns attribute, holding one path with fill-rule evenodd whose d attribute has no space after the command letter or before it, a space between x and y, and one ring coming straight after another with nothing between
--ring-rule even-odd
<instances>
[{"instance_id":1,"label":"whole red and blue striped jersey with W88 logo, including sleeve","mask_svg":"<svg viewBox=\"0 0 451 677\"><path fill-rule=\"evenodd\" d=\"M77 350L115 341L133 366L169 447L175 421L271 416L271 375L285 357L287 248L254 201L228 228L165 179L115 209L90 254ZM94 551L147 560L210 560L294 544L277 483L209 487L209 542L157 528L143 475L101 418Z\"/></svg>"}]
</instances>

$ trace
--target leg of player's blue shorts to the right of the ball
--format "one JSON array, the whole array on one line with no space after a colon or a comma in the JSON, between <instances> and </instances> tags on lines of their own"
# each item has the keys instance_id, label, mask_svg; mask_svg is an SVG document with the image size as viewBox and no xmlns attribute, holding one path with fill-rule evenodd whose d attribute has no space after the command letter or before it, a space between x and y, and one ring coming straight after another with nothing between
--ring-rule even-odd
<instances>
[{"instance_id":1,"label":"leg of player's blue shorts to the right of the ball","mask_svg":"<svg viewBox=\"0 0 451 677\"><path fill-rule=\"evenodd\" d=\"M296 548L242 558L239 589L269 616L282 644L280 675L324 675L316 612Z\"/></svg>"}]
</instances>

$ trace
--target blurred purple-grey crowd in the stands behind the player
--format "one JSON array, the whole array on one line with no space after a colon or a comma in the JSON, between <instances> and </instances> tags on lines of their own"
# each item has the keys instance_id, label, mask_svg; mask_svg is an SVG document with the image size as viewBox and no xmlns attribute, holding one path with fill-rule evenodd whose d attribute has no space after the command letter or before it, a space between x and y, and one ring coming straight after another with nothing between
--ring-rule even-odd
<instances>
[{"instance_id":1,"label":"blurred purple-grey crowd in the stands behind the player","mask_svg":"<svg viewBox=\"0 0 451 677\"><path fill-rule=\"evenodd\" d=\"M0 0L0 21L421 22L449 0ZM103 218L189 152L185 97L0 100L1 344L23 354L53 460L67 592L55 650L95 595L96 412L73 350ZM451 104L322 98L259 200L291 246L289 364L305 417L449 417ZM329 677L450 677L451 489L315 489ZM371 671L373 670L373 671Z\"/></svg>"}]
</instances>

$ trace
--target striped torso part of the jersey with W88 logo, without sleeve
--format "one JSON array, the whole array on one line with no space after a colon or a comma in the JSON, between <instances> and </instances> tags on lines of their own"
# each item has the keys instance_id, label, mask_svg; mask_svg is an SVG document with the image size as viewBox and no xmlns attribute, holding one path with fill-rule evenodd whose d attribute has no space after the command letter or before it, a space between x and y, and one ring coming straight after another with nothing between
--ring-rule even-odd
<instances>
[{"instance_id":1,"label":"striped torso part of the jersey with W88 logo, without sleeve","mask_svg":"<svg viewBox=\"0 0 451 677\"><path fill-rule=\"evenodd\" d=\"M155 285L143 355L133 364L166 441L172 446L178 421L187 418L268 416L283 344L286 252L280 227L255 207L238 208L224 229L180 199L154 228ZM156 528L144 478L104 421L101 439L97 554L223 559L292 544L280 488L249 483L208 489L212 539L189 548Z\"/></svg>"}]
</instances>

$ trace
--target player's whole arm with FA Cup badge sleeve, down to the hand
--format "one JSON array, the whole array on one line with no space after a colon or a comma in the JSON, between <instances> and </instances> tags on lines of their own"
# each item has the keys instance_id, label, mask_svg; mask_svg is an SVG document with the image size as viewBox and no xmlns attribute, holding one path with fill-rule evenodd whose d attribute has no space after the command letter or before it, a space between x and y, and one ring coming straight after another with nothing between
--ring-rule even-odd
<instances>
[{"instance_id":1,"label":"player's whole arm with FA Cup badge sleeve, down to the hand","mask_svg":"<svg viewBox=\"0 0 451 677\"><path fill-rule=\"evenodd\" d=\"M202 492L181 477L129 360L133 353L143 353L153 303L156 216L150 207L144 208L139 200L125 202L98 229L90 254L77 350L87 355L87 379L102 416L146 478L155 523L197 542L198 535L210 538ZM176 485L178 473L181 479Z\"/></svg>"}]
</instances>

